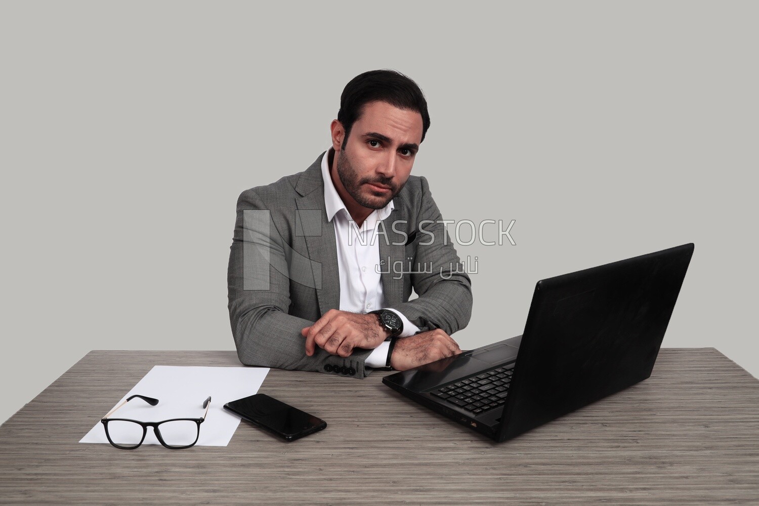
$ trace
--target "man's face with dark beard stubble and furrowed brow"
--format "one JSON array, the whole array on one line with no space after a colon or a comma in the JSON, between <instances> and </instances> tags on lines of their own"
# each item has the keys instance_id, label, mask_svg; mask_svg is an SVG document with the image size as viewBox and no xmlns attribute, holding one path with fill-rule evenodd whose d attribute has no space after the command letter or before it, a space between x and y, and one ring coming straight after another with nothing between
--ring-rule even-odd
<instances>
[{"instance_id":1,"label":"man's face with dark beard stubble and furrowed brow","mask_svg":"<svg viewBox=\"0 0 759 506\"><path fill-rule=\"evenodd\" d=\"M345 149L338 154L337 172L345 193L364 208L385 207L411 174L422 129L422 117L416 111L387 102L364 105ZM344 192L339 188L338 192L345 201Z\"/></svg>"}]
</instances>

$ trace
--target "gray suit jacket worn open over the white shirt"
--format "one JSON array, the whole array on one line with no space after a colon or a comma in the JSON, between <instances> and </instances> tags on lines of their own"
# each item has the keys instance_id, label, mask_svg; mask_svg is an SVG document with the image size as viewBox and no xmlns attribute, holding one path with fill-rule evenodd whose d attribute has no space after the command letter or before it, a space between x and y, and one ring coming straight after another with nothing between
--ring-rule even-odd
<instances>
[{"instance_id":1,"label":"gray suit jacket worn open over the white shirt","mask_svg":"<svg viewBox=\"0 0 759 506\"><path fill-rule=\"evenodd\" d=\"M356 349L342 358L317 347L308 357L301 335L302 328L328 310L339 309L340 303L335 229L324 206L322 156L325 153L304 172L241 193L229 255L229 319L238 357L246 365L364 378L370 372L364 360L371 350ZM423 332L442 328L451 335L469 322L471 281L465 272L456 272L460 260L446 239L445 225L436 223L442 216L427 180L410 176L394 204L380 222L386 238L377 236L386 306ZM394 266L395 272L417 272L398 275ZM411 288L419 297L409 301Z\"/></svg>"}]
</instances>

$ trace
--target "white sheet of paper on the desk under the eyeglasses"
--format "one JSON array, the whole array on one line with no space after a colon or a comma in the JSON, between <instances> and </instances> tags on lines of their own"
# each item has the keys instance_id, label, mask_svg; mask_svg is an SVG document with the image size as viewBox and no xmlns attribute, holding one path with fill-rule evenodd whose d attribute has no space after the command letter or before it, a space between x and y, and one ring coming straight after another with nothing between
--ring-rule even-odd
<instances>
[{"instance_id":1,"label":"white sheet of paper on the desk under the eyeglasses","mask_svg":"<svg viewBox=\"0 0 759 506\"><path fill-rule=\"evenodd\" d=\"M140 422L200 418L205 412L203 401L210 395L211 407L206 420L200 424L196 445L226 446L240 425L240 417L225 410L224 404L257 393L268 372L266 367L154 366L114 407L133 394L156 398L159 403L151 406L134 398L111 417ZM99 413L99 416L106 416L106 413ZM168 442L169 434L165 429L161 428L161 434ZM106 429L99 420L80 443L109 444ZM143 445L160 444L153 427L148 427Z\"/></svg>"}]
</instances>

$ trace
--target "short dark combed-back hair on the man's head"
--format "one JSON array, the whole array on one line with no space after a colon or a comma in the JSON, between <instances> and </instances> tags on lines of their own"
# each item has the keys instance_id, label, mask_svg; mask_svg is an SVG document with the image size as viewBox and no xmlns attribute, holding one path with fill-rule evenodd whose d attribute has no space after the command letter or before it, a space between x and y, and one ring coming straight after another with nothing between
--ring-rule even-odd
<instances>
[{"instance_id":1,"label":"short dark combed-back hair on the man's head","mask_svg":"<svg viewBox=\"0 0 759 506\"><path fill-rule=\"evenodd\" d=\"M348 142L351 127L364 112L369 102L387 102L397 108L416 111L422 115L422 140L430 127L427 100L414 80L398 71L383 69L358 74L345 85L340 96L340 110L337 119L345 128L342 147Z\"/></svg>"}]
</instances>

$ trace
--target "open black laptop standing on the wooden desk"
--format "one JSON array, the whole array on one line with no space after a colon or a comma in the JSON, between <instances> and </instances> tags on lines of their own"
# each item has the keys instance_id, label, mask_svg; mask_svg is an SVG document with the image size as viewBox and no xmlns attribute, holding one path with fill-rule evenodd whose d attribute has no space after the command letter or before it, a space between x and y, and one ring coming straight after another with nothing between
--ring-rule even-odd
<instances>
[{"instance_id":1,"label":"open black laptop standing on the wooden desk","mask_svg":"<svg viewBox=\"0 0 759 506\"><path fill-rule=\"evenodd\" d=\"M651 375L693 244L538 281L524 333L383 378L496 442Z\"/></svg>"}]
</instances>

